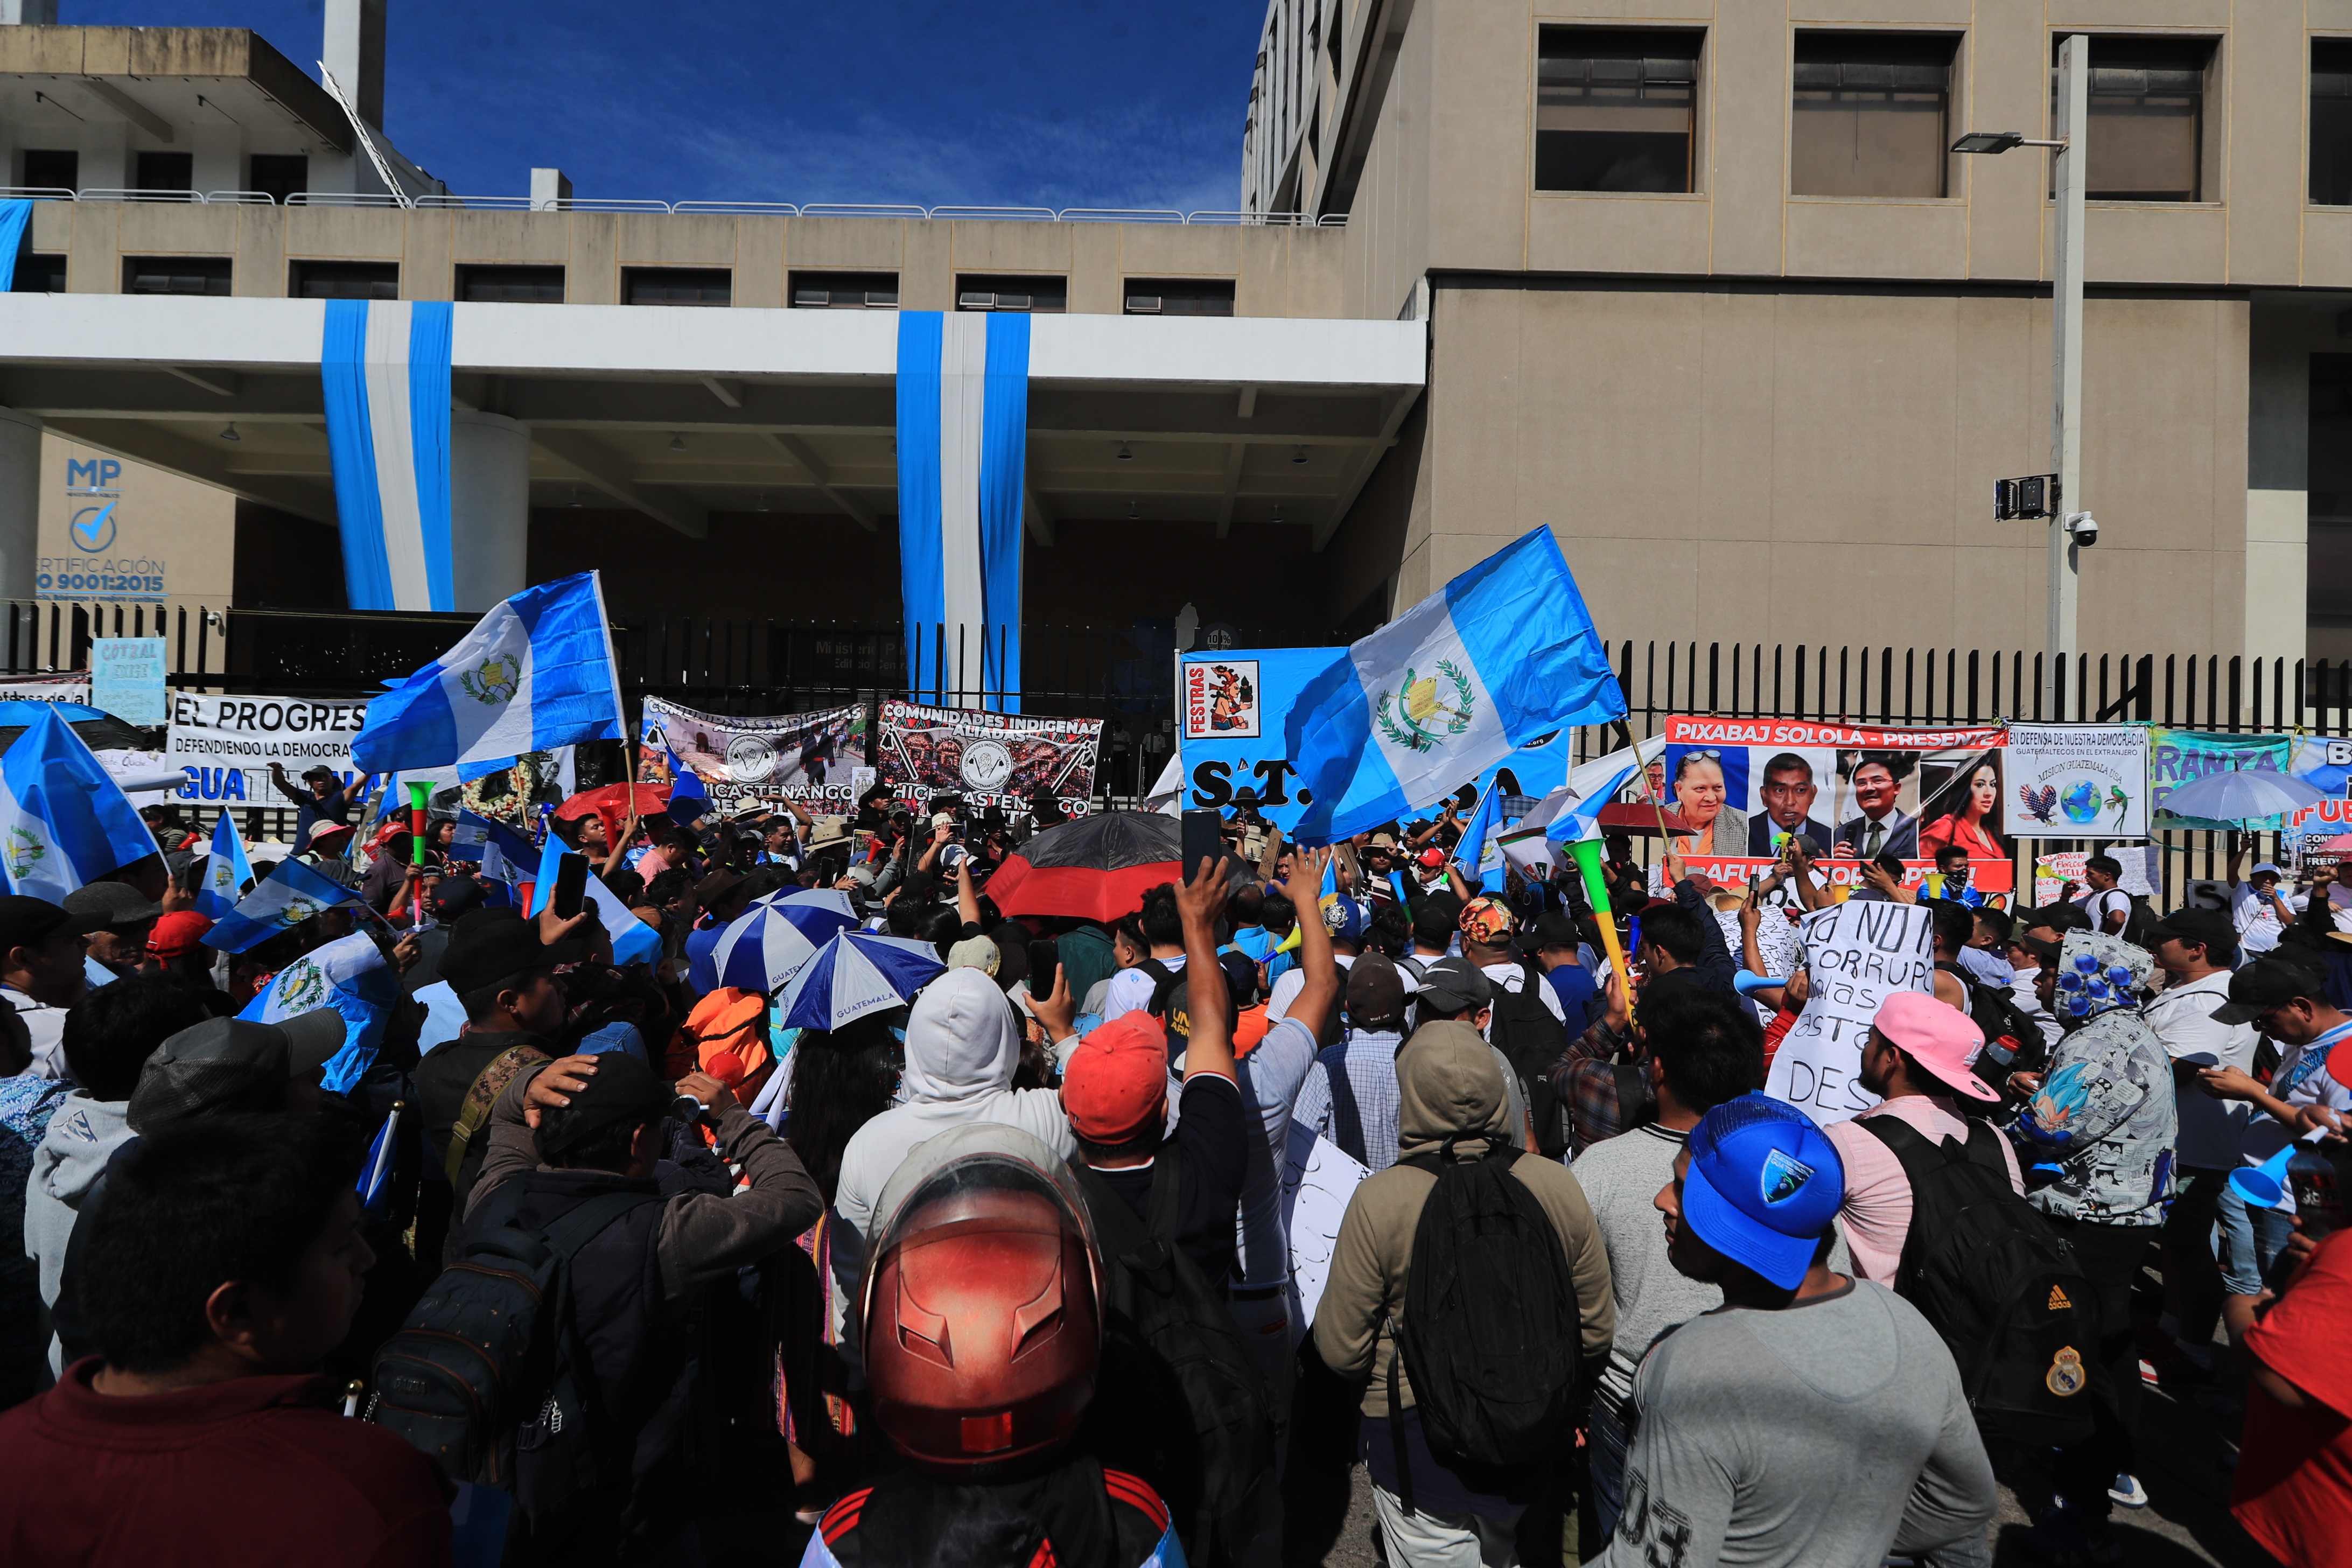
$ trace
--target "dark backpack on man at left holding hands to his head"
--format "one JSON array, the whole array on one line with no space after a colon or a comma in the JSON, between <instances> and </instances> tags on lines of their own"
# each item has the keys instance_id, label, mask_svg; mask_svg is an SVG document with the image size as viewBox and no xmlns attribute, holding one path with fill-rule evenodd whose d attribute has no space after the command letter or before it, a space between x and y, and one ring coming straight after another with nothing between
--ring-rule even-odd
<instances>
[{"instance_id":1,"label":"dark backpack on man at left holding hands to his head","mask_svg":"<svg viewBox=\"0 0 2352 1568\"><path fill-rule=\"evenodd\" d=\"M628 1211L659 1201L604 1192L543 1232L485 1225L468 1234L376 1352L369 1420L440 1460L452 1481L517 1490L532 1469L529 1493L593 1488L600 1448L586 1349L564 1328L572 1258Z\"/></svg>"}]
</instances>

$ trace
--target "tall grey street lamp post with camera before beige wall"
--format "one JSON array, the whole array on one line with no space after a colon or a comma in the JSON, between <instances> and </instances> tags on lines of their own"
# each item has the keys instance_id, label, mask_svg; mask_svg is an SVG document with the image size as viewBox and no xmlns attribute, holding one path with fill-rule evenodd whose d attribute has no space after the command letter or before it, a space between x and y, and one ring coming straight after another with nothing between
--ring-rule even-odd
<instances>
[{"instance_id":1,"label":"tall grey street lamp post with camera before beige wall","mask_svg":"<svg viewBox=\"0 0 2352 1568\"><path fill-rule=\"evenodd\" d=\"M2058 496L2051 512L2051 583L2049 583L2049 656L2042 665L2042 712L2058 715L2063 665L2077 651L2077 592L2082 588L2082 545L2098 538L2091 510L2082 505L2082 270L2084 270L2084 139L2091 108L2091 40L2074 33L2058 47L2058 103L2051 141L2032 141L2018 132L1969 132L1952 143L1955 153L2006 153L2009 148L2049 148L2051 183L2058 195L2058 228L2051 235L2051 473ZM2072 510L2070 510L2072 508Z\"/></svg>"}]
</instances>

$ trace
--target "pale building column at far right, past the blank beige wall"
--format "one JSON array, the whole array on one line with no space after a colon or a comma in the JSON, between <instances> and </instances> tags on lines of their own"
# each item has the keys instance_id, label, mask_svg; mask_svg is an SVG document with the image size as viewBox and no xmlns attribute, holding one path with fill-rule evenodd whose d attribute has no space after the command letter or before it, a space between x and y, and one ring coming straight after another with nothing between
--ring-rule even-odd
<instances>
[{"instance_id":1,"label":"pale building column at far right, past the blank beige wall","mask_svg":"<svg viewBox=\"0 0 2352 1568\"><path fill-rule=\"evenodd\" d=\"M2246 324L2246 658L2305 654L2310 444L2310 322L2256 299Z\"/></svg>"}]
</instances>

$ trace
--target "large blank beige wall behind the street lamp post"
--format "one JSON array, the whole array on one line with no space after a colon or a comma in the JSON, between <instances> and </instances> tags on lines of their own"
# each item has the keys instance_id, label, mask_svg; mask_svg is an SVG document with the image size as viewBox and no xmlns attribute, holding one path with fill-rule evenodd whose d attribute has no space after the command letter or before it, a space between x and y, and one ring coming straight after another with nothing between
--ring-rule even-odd
<instances>
[{"instance_id":1,"label":"large blank beige wall behind the street lamp post","mask_svg":"<svg viewBox=\"0 0 2352 1568\"><path fill-rule=\"evenodd\" d=\"M2046 524L1990 501L2049 454L2046 331L2025 289L1442 287L1418 473L1336 548L1402 534L1411 604L1548 524L1611 637L2034 649ZM2246 331L2089 303L2091 651L2239 651Z\"/></svg>"}]
</instances>

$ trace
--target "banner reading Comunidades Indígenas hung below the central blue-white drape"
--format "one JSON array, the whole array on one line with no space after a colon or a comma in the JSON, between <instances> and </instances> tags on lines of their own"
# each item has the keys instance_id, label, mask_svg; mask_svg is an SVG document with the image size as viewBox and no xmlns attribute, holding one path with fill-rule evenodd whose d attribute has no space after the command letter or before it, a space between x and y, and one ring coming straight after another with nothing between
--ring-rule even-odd
<instances>
[{"instance_id":1,"label":"banner reading Comunidades Ind\u00edgenas hung below the central blue-white drape","mask_svg":"<svg viewBox=\"0 0 2352 1568\"><path fill-rule=\"evenodd\" d=\"M1101 719L882 703L880 738L882 783L910 806L934 795L962 795L967 806L1028 811L1044 790L1065 816L1094 809Z\"/></svg>"}]
</instances>

